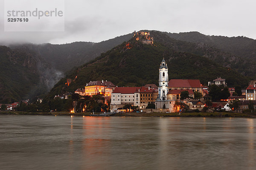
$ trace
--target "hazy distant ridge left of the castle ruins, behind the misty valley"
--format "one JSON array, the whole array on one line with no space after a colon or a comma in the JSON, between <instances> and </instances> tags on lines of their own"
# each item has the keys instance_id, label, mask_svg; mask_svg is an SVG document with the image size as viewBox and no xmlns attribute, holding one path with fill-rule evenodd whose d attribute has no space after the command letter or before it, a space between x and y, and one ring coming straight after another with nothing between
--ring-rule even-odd
<instances>
[{"instance_id":1,"label":"hazy distant ridge left of the castle ruins, behind the misty valley","mask_svg":"<svg viewBox=\"0 0 256 170\"><path fill-rule=\"evenodd\" d=\"M29 48L35 51L59 71L69 71L98 57L101 53L110 50L124 41L128 41L133 34L126 34L110 40L94 42L73 42L69 44L23 44L10 45L11 48Z\"/></svg>"}]
</instances>

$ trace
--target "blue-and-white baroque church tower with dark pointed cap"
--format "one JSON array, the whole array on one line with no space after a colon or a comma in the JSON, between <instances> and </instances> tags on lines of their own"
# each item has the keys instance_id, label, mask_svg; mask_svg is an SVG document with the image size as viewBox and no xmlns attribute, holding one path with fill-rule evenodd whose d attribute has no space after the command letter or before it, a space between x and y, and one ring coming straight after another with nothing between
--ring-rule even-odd
<instances>
[{"instance_id":1,"label":"blue-and-white baroque church tower with dark pointed cap","mask_svg":"<svg viewBox=\"0 0 256 170\"><path fill-rule=\"evenodd\" d=\"M168 93L168 67L166 61L162 60L159 67L158 100L166 100Z\"/></svg>"}]
</instances>

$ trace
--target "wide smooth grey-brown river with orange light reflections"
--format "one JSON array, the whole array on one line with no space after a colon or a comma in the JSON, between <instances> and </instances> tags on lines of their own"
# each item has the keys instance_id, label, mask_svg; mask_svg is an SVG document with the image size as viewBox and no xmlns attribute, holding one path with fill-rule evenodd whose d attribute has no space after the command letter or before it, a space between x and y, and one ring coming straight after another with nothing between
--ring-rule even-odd
<instances>
[{"instance_id":1,"label":"wide smooth grey-brown river with orange light reflections","mask_svg":"<svg viewBox=\"0 0 256 170\"><path fill-rule=\"evenodd\" d=\"M1 170L256 170L256 119L0 115Z\"/></svg>"}]
</instances>

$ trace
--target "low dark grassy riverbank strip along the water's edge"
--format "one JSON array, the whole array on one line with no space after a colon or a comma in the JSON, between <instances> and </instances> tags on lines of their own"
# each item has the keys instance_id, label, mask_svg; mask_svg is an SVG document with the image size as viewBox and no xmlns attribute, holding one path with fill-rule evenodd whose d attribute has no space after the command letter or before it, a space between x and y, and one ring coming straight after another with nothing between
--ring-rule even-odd
<instances>
[{"instance_id":1,"label":"low dark grassy riverbank strip along the water's edge","mask_svg":"<svg viewBox=\"0 0 256 170\"><path fill-rule=\"evenodd\" d=\"M0 111L1 115L49 115L49 116L91 116L91 113L69 112L22 112ZM95 113L97 114L97 113ZM256 113L116 113L110 116L136 116L136 117L245 117L256 118Z\"/></svg>"}]
</instances>

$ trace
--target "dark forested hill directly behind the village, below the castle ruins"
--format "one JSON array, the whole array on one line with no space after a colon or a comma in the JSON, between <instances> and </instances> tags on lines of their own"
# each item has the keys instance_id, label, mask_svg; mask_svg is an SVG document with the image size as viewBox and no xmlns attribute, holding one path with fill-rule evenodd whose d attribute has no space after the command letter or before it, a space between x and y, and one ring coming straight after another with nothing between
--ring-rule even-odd
<instances>
[{"instance_id":1,"label":"dark forested hill directly behind the village, below the castle ruins","mask_svg":"<svg viewBox=\"0 0 256 170\"><path fill-rule=\"evenodd\" d=\"M238 84L242 87L250 80L234 69L215 62L211 57L192 54L205 52L200 48L194 50L193 43L174 40L160 31L150 31L150 35L154 37L153 45L143 44L133 37L71 71L55 85L50 96L73 92L84 87L87 82L102 79L118 86L141 86L147 83L157 85L158 68L163 57L168 64L169 79L200 79L206 85L212 79L223 77L229 86ZM67 78L73 79L69 86L65 85Z\"/></svg>"}]
</instances>

